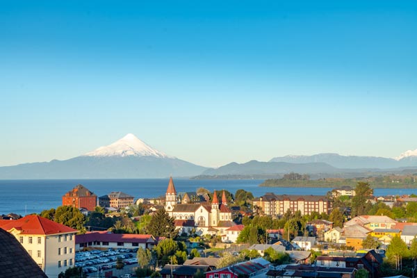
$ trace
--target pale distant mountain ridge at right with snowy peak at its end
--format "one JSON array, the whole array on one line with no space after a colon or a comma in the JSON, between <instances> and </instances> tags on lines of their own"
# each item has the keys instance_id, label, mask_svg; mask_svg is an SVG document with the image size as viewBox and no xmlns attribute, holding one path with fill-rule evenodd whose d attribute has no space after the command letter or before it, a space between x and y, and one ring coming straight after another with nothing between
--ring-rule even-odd
<instances>
[{"instance_id":1,"label":"pale distant mountain ridge at right with snowy peak at its end","mask_svg":"<svg viewBox=\"0 0 417 278\"><path fill-rule=\"evenodd\" d=\"M417 150L414 151L417 153ZM286 163L327 163L333 167L344 169L392 169L397 167L417 166L417 156L408 151L398 159L376 156L341 156L340 154L314 154L312 156L282 156L275 157L270 162Z\"/></svg>"}]
</instances>

